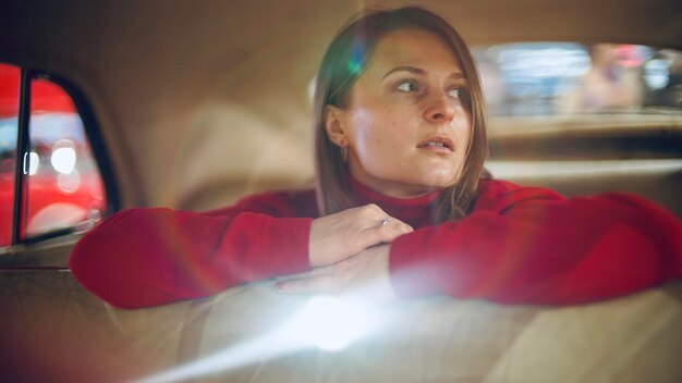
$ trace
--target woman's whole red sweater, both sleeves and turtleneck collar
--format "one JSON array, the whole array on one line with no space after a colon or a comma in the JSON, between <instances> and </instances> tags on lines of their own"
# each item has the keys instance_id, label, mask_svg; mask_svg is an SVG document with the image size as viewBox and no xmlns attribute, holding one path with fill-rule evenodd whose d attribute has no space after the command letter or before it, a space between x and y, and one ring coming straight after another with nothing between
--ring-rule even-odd
<instances>
[{"instance_id":1,"label":"woman's whole red sweater, both sleeves and turtleneck collar","mask_svg":"<svg viewBox=\"0 0 682 383\"><path fill-rule=\"evenodd\" d=\"M508 304L576 304L682 277L682 223L624 194L564 199L536 187L480 182L473 211L434 224L438 194L397 199L356 187L415 231L390 246L401 297L447 294ZM121 308L206 297L309 269L313 190L267 193L203 213L118 212L85 235L71 270Z\"/></svg>"}]
</instances>

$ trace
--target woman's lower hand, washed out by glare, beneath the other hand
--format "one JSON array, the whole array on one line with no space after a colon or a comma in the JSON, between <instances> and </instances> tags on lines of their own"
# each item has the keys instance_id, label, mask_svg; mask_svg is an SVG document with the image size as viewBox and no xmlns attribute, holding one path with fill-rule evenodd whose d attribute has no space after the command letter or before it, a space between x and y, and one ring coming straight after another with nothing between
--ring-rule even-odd
<instances>
[{"instance_id":1,"label":"woman's lower hand, washed out by glare, beneath the other hand","mask_svg":"<svg viewBox=\"0 0 682 383\"><path fill-rule=\"evenodd\" d=\"M293 294L341 294L375 304L398 299L389 274L389 245L366 249L332 265L277 279L277 289Z\"/></svg>"}]
</instances>

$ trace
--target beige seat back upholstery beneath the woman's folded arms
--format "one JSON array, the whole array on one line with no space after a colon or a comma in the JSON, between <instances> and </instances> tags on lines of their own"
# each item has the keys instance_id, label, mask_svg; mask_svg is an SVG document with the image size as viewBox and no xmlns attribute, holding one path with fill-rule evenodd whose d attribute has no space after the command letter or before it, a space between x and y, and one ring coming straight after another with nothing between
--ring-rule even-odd
<instances>
[{"instance_id":1,"label":"beige seat back upholstery beneath the woman's folded arms","mask_svg":"<svg viewBox=\"0 0 682 383\"><path fill-rule=\"evenodd\" d=\"M268 283L197 301L117 310L69 273L2 275L3 376L120 381L221 353L209 382L679 382L682 283L600 304L499 306L444 297L400 302L346 349L278 355L267 338L307 298ZM3 286L5 287L5 286Z\"/></svg>"}]
</instances>

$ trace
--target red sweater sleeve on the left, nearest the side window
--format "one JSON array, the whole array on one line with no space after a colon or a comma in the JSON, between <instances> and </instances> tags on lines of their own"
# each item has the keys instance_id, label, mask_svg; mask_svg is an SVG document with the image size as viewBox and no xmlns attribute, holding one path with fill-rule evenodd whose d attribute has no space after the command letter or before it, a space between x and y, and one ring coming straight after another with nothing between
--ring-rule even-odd
<instances>
[{"instance_id":1,"label":"red sweater sleeve on the left, nearest the side window","mask_svg":"<svg viewBox=\"0 0 682 383\"><path fill-rule=\"evenodd\" d=\"M123 210L76 244L71 271L95 295L127 309L302 272L309 268L313 219L278 217L289 208L270 194L205 213Z\"/></svg>"}]
</instances>

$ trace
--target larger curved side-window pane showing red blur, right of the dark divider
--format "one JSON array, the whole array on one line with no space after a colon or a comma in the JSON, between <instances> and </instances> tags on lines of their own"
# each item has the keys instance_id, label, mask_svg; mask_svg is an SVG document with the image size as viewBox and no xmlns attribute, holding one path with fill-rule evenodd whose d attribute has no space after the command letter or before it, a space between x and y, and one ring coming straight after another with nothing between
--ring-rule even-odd
<instances>
[{"instance_id":1,"label":"larger curved side-window pane showing red blur, right of the dark divider","mask_svg":"<svg viewBox=\"0 0 682 383\"><path fill-rule=\"evenodd\" d=\"M69 95L47 79L31 84L27 237L96 222L106 201L83 121Z\"/></svg>"}]
</instances>

